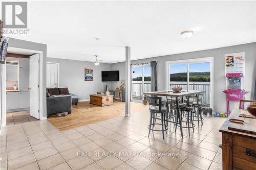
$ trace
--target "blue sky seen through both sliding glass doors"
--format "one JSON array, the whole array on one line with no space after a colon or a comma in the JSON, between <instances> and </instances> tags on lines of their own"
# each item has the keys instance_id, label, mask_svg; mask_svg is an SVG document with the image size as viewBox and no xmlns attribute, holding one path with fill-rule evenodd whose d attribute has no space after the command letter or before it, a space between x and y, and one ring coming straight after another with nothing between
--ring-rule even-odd
<instances>
[{"instance_id":1,"label":"blue sky seen through both sliding glass doors","mask_svg":"<svg viewBox=\"0 0 256 170\"><path fill-rule=\"evenodd\" d=\"M132 78L142 77L142 67L134 67L132 69ZM210 71L210 63L193 63L189 64L189 72L205 72ZM175 64L170 66L170 74L178 72L187 72L187 64ZM150 66L144 67L144 76L151 76Z\"/></svg>"}]
</instances>

